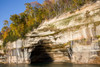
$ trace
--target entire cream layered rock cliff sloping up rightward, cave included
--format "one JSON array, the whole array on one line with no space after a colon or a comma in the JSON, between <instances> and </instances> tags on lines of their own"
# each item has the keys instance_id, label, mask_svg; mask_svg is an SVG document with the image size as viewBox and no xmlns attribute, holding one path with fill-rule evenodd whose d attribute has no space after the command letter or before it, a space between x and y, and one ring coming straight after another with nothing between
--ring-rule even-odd
<instances>
[{"instance_id":1,"label":"entire cream layered rock cliff sloping up rightward, cave included","mask_svg":"<svg viewBox=\"0 0 100 67\"><path fill-rule=\"evenodd\" d=\"M42 41L41 41L42 40ZM45 21L7 44L9 63L100 63L100 1ZM20 61L20 62L19 62Z\"/></svg>"}]
</instances>

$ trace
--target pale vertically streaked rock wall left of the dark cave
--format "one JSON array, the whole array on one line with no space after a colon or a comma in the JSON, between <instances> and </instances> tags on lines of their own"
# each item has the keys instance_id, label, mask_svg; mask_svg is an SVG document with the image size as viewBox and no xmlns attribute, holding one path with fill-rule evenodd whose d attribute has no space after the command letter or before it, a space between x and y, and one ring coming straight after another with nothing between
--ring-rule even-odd
<instances>
[{"instance_id":1,"label":"pale vertically streaked rock wall left of the dark cave","mask_svg":"<svg viewBox=\"0 0 100 67\"><path fill-rule=\"evenodd\" d=\"M23 40L17 40L13 43L8 43L6 48L6 61L7 63L29 63L29 56L31 53L31 47L26 47Z\"/></svg>"}]
</instances>

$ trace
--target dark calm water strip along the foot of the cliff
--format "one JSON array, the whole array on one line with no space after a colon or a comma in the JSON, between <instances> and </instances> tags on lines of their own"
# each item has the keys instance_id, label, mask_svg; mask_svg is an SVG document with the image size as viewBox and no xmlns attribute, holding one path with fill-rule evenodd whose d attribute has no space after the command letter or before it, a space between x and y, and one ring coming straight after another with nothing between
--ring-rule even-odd
<instances>
[{"instance_id":1,"label":"dark calm water strip along the foot of the cliff","mask_svg":"<svg viewBox=\"0 0 100 67\"><path fill-rule=\"evenodd\" d=\"M0 67L100 67L100 65L81 65L70 63L51 63L51 64L0 64Z\"/></svg>"}]
</instances>

